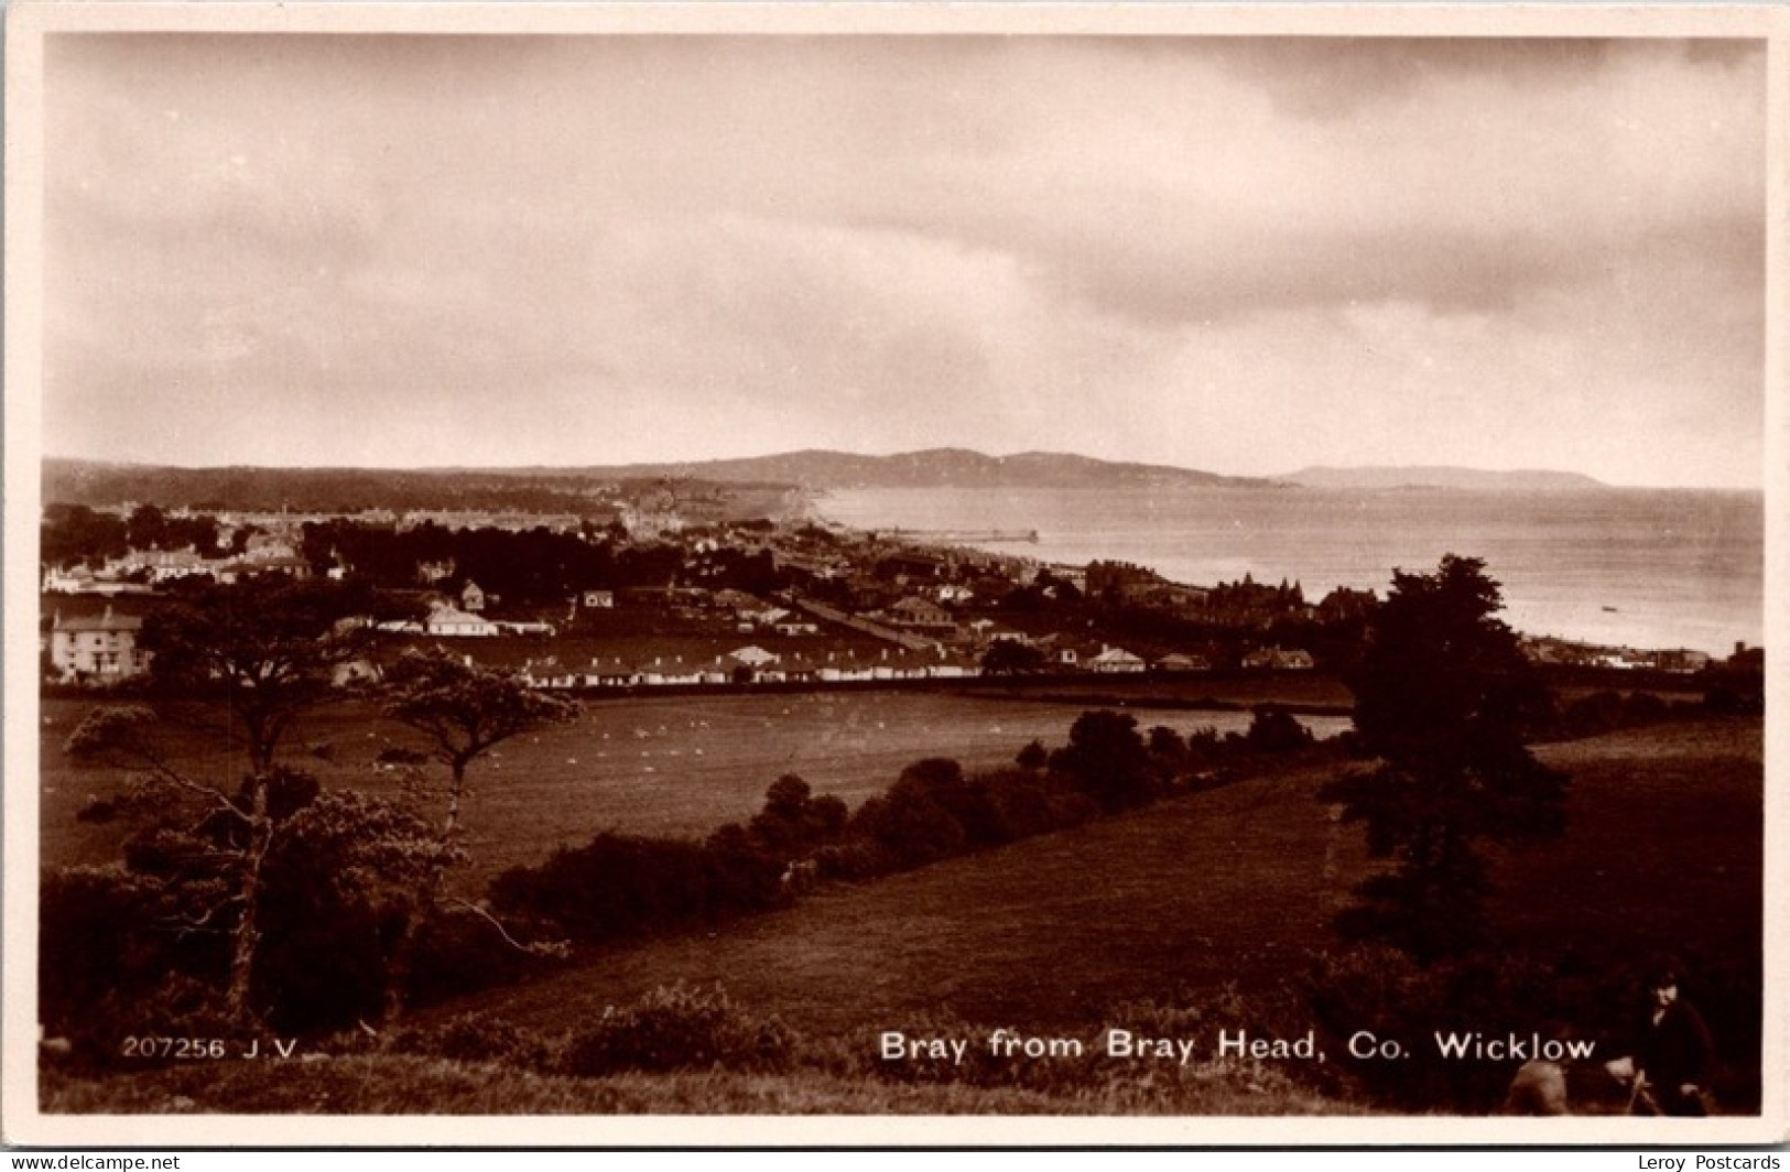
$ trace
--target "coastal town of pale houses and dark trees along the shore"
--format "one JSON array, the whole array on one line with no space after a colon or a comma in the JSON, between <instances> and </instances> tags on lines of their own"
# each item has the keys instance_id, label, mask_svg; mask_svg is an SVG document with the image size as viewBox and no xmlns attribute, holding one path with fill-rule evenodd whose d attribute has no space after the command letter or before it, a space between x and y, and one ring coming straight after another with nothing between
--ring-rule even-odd
<instances>
[{"instance_id":1,"label":"coastal town of pale houses and dark trees along the shore","mask_svg":"<svg viewBox=\"0 0 1790 1172\"><path fill-rule=\"evenodd\" d=\"M959 544L981 539L983 548ZM1011 542L1002 546L1001 542ZM363 587L379 644L442 646L550 689L823 687L977 676L1314 671L1373 590L1192 585L1047 564L1026 535L859 531L797 492L662 481L576 510L52 505L41 664L52 685L141 676L158 607L200 583ZM1002 551L995 551L1002 549ZM1525 637L1539 664L1697 673L1706 651ZM1735 650L1736 666L1763 657ZM371 658L344 678L378 673Z\"/></svg>"}]
</instances>

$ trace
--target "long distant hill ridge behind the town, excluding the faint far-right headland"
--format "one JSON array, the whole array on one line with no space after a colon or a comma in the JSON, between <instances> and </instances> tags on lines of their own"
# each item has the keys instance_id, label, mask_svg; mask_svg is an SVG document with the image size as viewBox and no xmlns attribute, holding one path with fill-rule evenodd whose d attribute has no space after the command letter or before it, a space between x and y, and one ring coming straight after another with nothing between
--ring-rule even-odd
<instances>
[{"instance_id":1,"label":"long distant hill ridge behind the town, excluding the faint far-right headland","mask_svg":"<svg viewBox=\"0 0 1790 1172\"><path fill-rule=\"evenodd\" d=\"M748 460L517 469L183 469L147 463L45 460L43 499L70 505L211 503L227 508L575 508L625 481L695 480L800 488L1135 488L1269 487L1149 463L1020 453L984 456L942 447L897 456L797 451Z\"/></svg>"}]
</instances>

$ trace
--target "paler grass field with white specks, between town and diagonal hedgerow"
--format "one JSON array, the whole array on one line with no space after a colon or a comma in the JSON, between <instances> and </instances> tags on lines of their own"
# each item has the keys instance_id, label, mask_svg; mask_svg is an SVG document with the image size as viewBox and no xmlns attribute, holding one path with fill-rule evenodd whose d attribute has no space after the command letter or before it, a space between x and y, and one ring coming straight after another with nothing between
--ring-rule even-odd
<instances>
[{"instance_id":1,"label":"paler grass field with white specks, between town and diagonal hedgerow","mask_svg":"<svg viewBox=\"0 0 1790 1172\"><path fill-rule=\"evenodd\" d=\"M120 778L68 760L63 741L88 710L77 700L45 703L41 728L43 852L47 862L116 857L124 828L75 814ZM1140 728L1242 730L1246 712L1129 709ZM498 871L544 861L557 846L580 846L601 830L703 836L743 821L784 773L850 805L881 793L920 757L956 757L965 768L1011 764L1029 741L1063 744L1081 709L1027 698L983 698L933 691L836 691L791 694L666 696L596 700L578 723L505 743L471 769L465 809L473 862L456 873L465 891ZM1310 718L1319 735L1348 726ZM326 786L394 791L397 777L376 759L390 746L422 748L417 734L365 705L310 716L292 735L290 757ZM319 748L328 759L306 753ZM213 741L186 735L183 762L218 786L242 768ZM433 766L440 777L442 768Z\"/></svg>"}]
</instances>

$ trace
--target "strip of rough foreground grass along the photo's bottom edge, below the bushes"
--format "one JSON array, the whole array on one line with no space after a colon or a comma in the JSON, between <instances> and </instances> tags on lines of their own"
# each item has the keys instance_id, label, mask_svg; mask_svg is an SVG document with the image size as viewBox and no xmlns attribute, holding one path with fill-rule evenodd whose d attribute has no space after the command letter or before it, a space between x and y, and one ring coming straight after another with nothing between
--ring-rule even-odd
<instances>
[{"instance_id":1,"label":"strip of rough foreground grass along the photo's bottom edge, below the bushes","mask_svg":"<svg viewBox=\"0 0 1790 1172\"><path fill-rule=\"evenodd\" d=\"M410 1056L211 1063L111 1075L47 1072L47 1115L1350 1115L1273 1072L1214 1065L1172 1088L1113 1083L1038 1093L822 1072L687 1072L601 1079Z\"/></svg>"}]
</instances>

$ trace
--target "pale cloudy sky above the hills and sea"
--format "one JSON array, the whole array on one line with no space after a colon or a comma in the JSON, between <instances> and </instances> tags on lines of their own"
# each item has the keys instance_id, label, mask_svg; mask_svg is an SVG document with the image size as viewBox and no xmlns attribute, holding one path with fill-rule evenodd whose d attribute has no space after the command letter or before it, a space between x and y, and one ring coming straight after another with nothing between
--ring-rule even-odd
<instances>
[{"instance_id":1,"label":"pale cloudy sky above the hills and sea","mask_svg":"<svg viewBox=\"0 0 1790 1172\"><path fill-rule=\"evenodd\" d=\"M1743 41L57 34L45 451L1756 487Z\"/></svg>"}]
</instances>

